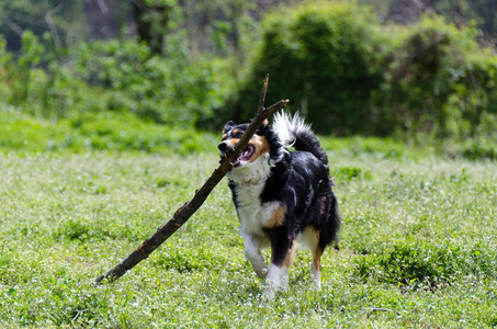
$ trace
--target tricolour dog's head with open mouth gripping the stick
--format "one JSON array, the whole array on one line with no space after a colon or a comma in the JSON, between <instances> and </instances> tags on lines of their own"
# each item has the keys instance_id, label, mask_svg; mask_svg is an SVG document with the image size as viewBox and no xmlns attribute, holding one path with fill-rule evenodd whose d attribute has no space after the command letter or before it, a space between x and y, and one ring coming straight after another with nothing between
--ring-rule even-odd
<instances>
[{"instance_id":1,"label":"tricolour dog's head with open mouth gripping the stick","mask_svg":"<svg viewBox=\"0 0 497 329\"><path fill-rule=\"evenodd\" d=\"M241 135L247 131L249 124L236 125L233 121L228 121L223 129L223 139L217 146L222 157L233 150L240 140ZM283 155L283 148L276 134L269 127L266 121L250 138L249 143L233 162L234 168L244 167L255 162L260 157L268 157L269 163L272 166L278 162Z\"/></svg>"}]
</instances>

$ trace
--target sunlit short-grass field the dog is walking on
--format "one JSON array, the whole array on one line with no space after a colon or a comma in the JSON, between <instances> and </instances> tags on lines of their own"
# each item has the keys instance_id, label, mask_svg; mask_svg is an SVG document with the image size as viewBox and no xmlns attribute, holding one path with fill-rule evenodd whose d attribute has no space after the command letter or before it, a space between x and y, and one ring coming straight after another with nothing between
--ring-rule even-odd
<instances>
[{"instance_id":1,"label":"sunlit short-grass field the dog is walking on","mask_svg":"<svg viewBox=\"0 0 497 329\"><path fill-rule=\"evenodd\" d=\"M244 258L226 181L147 260L91 285L192 197L217 166L215 144L184 157L3 152L0 327L497 327L496 163L324 145L340 250L325 252L320 292L298 251L273 302Z\"/></svg>"}]
</instances>

